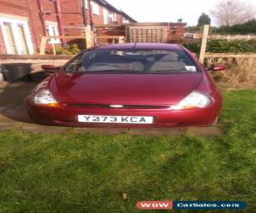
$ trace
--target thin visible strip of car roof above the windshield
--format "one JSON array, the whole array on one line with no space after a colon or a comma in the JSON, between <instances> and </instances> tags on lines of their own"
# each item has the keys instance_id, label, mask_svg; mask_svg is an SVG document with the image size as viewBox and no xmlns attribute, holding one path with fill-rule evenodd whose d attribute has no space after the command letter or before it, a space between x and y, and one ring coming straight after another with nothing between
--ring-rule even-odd
<instances>
[{"instance_id":1,"label":"thin visible strip of car roof above the windshield","mask_svg":"<svg viewBox=\"0 0 256 213\"><path fill-rule=\"evenodd\" d=\"M181 50L181 46L171 43L115 43L109 45L102 45L96 49L170 49Z\"/></svg>"}]
</instances>

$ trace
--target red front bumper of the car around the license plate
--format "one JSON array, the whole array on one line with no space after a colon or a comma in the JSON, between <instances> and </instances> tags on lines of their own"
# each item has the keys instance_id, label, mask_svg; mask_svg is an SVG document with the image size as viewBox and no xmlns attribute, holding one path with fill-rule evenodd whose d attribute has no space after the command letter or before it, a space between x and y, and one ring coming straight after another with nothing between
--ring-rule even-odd
<instances>
[{"instance_id":1,"label":"red front bumper of the car around the license plate","mask_svg":"<svg viewBox=\"0 0 256 213\"><path fill-rule=\"evenodd\" d=\"M113 108L79 108L79 107L41 107L26 102L30 117L40 124L55 124L63 126L84 127L177 127L201 126L212 124L218 117L221 107L220 101L201 109L169 110L169 109L113 109ZM106 116L153 116L153 124L96 124L79 123L78 115L106 115Z\"/></svg>"}]
</instances>

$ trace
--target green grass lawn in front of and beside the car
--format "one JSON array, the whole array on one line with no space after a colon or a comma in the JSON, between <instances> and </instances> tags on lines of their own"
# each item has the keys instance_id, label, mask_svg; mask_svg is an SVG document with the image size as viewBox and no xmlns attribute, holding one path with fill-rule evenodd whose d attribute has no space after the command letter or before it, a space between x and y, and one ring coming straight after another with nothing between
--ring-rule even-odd
<instances>
[{"instance_id":1,"label":"green grass lawn in front of and beside the car","mask_svg":"<svg viewBox=\"0 0 256 213\"><path fill-rule=\"evenodd\" d=\"M137 201L163 199L242 200L253 212L256 90L225 93L219 125L224 136L1 132L0 212L139 212Z\"/></svg>"}]
</instances>

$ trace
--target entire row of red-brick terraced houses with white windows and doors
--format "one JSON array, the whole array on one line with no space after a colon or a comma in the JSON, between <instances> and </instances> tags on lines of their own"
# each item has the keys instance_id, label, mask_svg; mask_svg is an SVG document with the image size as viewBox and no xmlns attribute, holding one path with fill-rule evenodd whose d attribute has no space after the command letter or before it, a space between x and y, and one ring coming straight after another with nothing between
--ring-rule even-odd
<instances>
[{"instance_id":1,"label":"entire row of red-brick terraced houses with white windows and doors","mask_svg":"<svg viewBox=\"0 0 256 213\"><path fill-rule=\"evenodd\" d=\"M30 55L45 35L82 35L84 26L135 21L105 0L1 0L0 54Z\"/></svg>"}]
</instances>

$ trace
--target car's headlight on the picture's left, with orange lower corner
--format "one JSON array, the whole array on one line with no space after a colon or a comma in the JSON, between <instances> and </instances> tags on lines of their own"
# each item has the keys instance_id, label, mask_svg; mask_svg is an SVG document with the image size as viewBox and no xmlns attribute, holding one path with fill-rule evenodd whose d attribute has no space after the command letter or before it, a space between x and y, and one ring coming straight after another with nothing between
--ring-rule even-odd
<instances>
[{"instance_id":1,"label":"car's headlight on the picture's left, with orange lower corner","mask_svg":"<svg viewBox=\"0 0 256 213\"><path fill-rule=\"evenodd\" d=\"M37 105L45 105L49 107L55 107L58 102L55 97L50 93L49 89L43 89L34 96L34 103Z\"/></svg>"}]
</instances>

